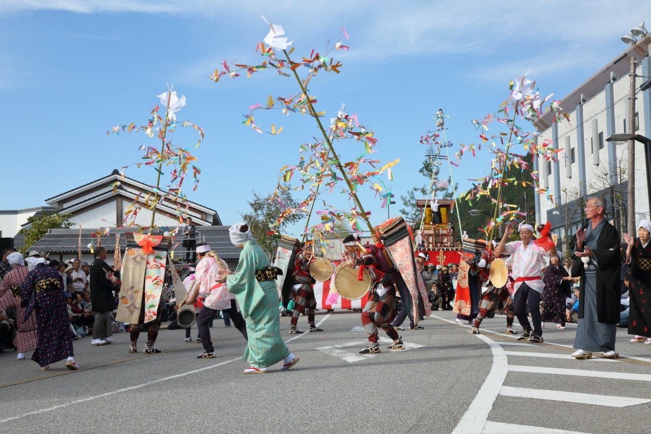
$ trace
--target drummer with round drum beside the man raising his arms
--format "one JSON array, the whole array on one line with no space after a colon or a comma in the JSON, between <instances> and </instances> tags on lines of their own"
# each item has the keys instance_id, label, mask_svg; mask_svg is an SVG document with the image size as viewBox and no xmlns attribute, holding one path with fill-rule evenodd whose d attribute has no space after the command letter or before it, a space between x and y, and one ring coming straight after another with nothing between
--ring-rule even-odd
<instances>
[{"instance_id":1,"label":"drummer with round drum beside the man raising his arms","mask_svg":"<svg viewBox=\"0 0 651 434\"><path fill-rule=\"evenodd\" d=\"M497 241L494 240L493 242L497 244ZM479 263L471 266L471 269L477 267L480 270L481 280L486 282L488 286L486 292L479 299L479 313L471 330L473 334L480 334L479 326L482 321L496 310L503 310L506 313L506 331L504 333L516 334L516 330L513 328L513 320L515 319L513 300L511 300L508 288L506 288L508 268L506 268L506 263L498 256L494 255L489 247L482 253Z\"/></svg>"}]
</instances>

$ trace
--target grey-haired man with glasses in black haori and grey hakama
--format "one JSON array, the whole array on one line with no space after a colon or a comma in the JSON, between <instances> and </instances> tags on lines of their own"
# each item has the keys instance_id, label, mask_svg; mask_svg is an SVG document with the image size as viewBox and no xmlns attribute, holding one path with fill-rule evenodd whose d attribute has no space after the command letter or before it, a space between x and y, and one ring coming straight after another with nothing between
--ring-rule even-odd
<instances>
[{"instance_id":1,"label":"grey-haired man with glasses in black haori and grey hakama","mask_svg":"<svg viewBox=\"0 0 651 434\"><path fill-rule=\"evenodd\" d=\"M572 356L592 358L594 351L616 358L615 332L620 313L619 233L604 218L606 201L590 197L585 206L588 224L577 230L572 276L581 276L579 326Z\"/></svg>"}]
</instances>

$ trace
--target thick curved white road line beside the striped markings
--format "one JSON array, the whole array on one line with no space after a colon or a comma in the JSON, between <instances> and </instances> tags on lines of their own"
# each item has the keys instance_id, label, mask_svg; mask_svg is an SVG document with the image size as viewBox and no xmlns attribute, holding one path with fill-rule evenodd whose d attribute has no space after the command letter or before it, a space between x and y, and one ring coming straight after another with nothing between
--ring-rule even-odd
<instances>
[{"instance_id":1,"label":"thick curved white road line beside the striped markings","mask_svg":"<svg viewBox=\"0 0 651 434\"><path fill-rule=\"evenodd\" d=\"M508 358L504 349L495 341L481 334L475 334L478 339L486 342L493 353L493 366L484 380L484 384L477 392L477 396L468 407L464 416L452 431L452 434L480 433L486 424L488 414L493 408L497 394L501 388L506 373L508 373Z\"/></svg>"}]
</instances>

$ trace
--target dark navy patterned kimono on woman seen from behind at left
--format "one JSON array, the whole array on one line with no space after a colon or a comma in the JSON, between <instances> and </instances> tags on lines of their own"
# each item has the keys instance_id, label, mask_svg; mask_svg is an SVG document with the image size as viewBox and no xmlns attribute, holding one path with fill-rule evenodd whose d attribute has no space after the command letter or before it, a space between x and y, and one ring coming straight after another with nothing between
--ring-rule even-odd
<instances>
[{"instance_id":1,"label":"dark navy patterned kimono on woman seen from behind at left","mask_svg":"<svg viewBox=\"0 0 651 434\"><path fill-rule=\"evenodd\" d=\"M20 298L26 306L23 319L36 315L38 340L32 360L43 367L74 356L61 274L43 263L36 265L21 285Z\"/></svg>"}]
</instances>

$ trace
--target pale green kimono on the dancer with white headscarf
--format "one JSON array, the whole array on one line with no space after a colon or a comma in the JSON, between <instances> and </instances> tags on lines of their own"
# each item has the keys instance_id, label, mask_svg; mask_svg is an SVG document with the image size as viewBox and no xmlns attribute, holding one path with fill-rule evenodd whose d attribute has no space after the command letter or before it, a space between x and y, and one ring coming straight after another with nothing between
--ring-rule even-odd
<instances>
[{"instance_id":1,"label":"pale green kimono on the dancer with white headscarf","mask_svg":"<svg viewBox=\"0 0 651 434\"><path fill-rule=\"evenodd\" d=\"M275 280L258 282L256 270L270 265L256 240L248 240L240 253L235 274L227 278L229 291L235 294L246 321L247 347L242 360L253 368L267 368L286 358L290 351L281 338L278 290Z\"/></svg>"}]
</instances>

